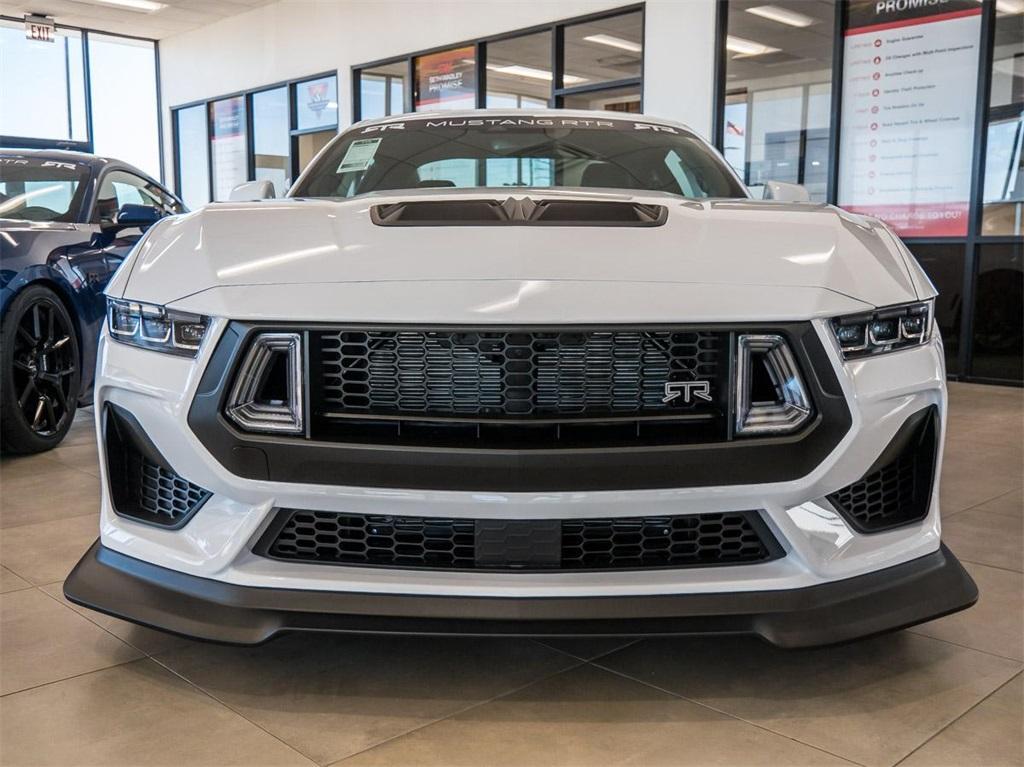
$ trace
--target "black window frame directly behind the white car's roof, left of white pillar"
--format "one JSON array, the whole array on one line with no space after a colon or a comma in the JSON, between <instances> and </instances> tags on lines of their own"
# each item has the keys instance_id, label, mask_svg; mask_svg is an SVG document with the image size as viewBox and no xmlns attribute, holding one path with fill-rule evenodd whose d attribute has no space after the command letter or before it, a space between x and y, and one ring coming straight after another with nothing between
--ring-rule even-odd
<instances>
[{"instance_id":1,"label":"black window frame directly behind the white car's roof, left of white pillar","mask_svg":"<svg viewBox=\"0 0 1024 767\"><path fill-rule=\"evenodd\" d=\"M640 14L640 45L643 48L643 52L640 55L640 74L637 77L621 78L618 80L606 80L600 83L589 83L586 85L564 87L563 78L565 74L565 29L567 27L573 27L580 24L587 24L589 22L601 22L606 18L614 18L615 16L623 16L630 13ZM551 90L548 95L549 109L561 109L566 96L586 95L590 93L598 93L600 91L614 90L617 88L636 87L640 90L640 110L642 112L644 67L647 58L646 18L647 15L646 15L645 3L635 3L632 5L624 5L618 8L609 8L608 10L597 11L594 13L587 13L581 16L563 18L557 22L552 22L550 24L536 25L534 27L524 27L509 32L503 32L498 35L488 35L486 37L452 42L445 45L438 45L432 48L425 48L423 50L417 50L398 56L379 58L374 61L367 61L366 63L354 65L351 68L352 122L357 123L364 119L362 103L361 103L362 93L360 90L361 77L364 72L373 71L381 67L403 63L406 67L404 77L409 82L408 87L404 88L404 92L402 93L404 101L403 114L415 114L414 105L416 103L416 94L415 94L416 59L419 58L420 56L426 56L432 53L443 53L444 51L452 50L454 48L466 48L470 46L474 48L475 59L476 59L476 109L485 109L487 100L487 45L490 43L499 43L499 42L505 42L507 40L513 40L517 37L536 35L543 32L549 32L551 34L552 78L551 78ZM385 111L387 113L390 112L390 103L386 103Z\"/></svg>"}]
</instances>

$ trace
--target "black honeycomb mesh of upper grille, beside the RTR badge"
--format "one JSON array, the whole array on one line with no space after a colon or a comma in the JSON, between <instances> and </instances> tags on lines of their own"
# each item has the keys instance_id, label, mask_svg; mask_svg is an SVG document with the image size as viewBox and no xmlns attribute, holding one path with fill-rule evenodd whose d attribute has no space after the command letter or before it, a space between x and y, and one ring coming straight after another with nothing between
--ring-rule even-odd
<instances>
[{"instance_id":1,"label":"black honeycomb mesh of upper grille, beside the RTR badge","mask_svg":"<svg viewBox=\"0 0 1024 767\"><path fill-rule=\"evenodd\" d=\"M325 407L346 414L581 417L697 411L666 384L720 377L702 331L342 330L315 335ZM313 372L314 382L317 380Z\"/></svg>"}]
</instances>

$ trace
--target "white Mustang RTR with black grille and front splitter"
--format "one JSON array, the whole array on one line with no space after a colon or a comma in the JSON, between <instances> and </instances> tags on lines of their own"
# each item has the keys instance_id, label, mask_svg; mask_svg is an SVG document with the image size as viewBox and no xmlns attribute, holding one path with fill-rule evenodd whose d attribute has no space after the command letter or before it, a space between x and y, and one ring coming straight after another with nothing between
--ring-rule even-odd
<instances>
[{"instance_id":1,"label":"white Mustang RTR with black grille and front splitter","mask_svg":"<svg viewBox=\"0 0 1024 767\"><path fill-rule=\"evenodd\" d=\"M685 127L364 122L111 282L79 604L179 634L846 641L977 598L935 289ZM247 189L242 189L244 193Z\"/></svg>"}]
</instances>

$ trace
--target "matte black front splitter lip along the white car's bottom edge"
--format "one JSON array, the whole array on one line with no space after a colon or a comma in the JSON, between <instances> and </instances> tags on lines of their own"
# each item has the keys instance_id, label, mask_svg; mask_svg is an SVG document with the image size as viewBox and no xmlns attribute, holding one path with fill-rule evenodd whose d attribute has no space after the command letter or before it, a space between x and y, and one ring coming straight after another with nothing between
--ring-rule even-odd
<instances>
[{"instance_id":1,"label":"matte black front splitter lip along the white car's bottom edge","mask_svg":"<svg viewBox=\"0 0 1024 767\"><path fill-rule=\"evenodd\" d=\"M256 644L288 631L474 636L752 634L835 644L970 607L978 589L945 546L844 581L785 591L631 597L455 597L236 586L98 541L65 582L76 604L164 631Z\"/></svg>"}]
</instances>

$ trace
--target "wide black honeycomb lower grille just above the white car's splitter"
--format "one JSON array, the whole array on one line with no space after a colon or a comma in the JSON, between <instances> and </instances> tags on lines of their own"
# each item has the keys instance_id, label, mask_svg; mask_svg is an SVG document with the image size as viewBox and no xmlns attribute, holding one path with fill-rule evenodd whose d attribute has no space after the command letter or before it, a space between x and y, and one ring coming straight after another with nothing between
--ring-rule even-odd
<instances>
[{"instance_id":1,"label":"wide black honeycomb lower grille just above the white car's splitter","mask_svg":"<svg viewBox=\"0 0 1024 767\"><path fill-rule=\"evenodd\" d=\"M282 509L255 551L286 561L456 570L697 567L781 555L755 511L534 521Z\"/></svg>"}]
</instances>

